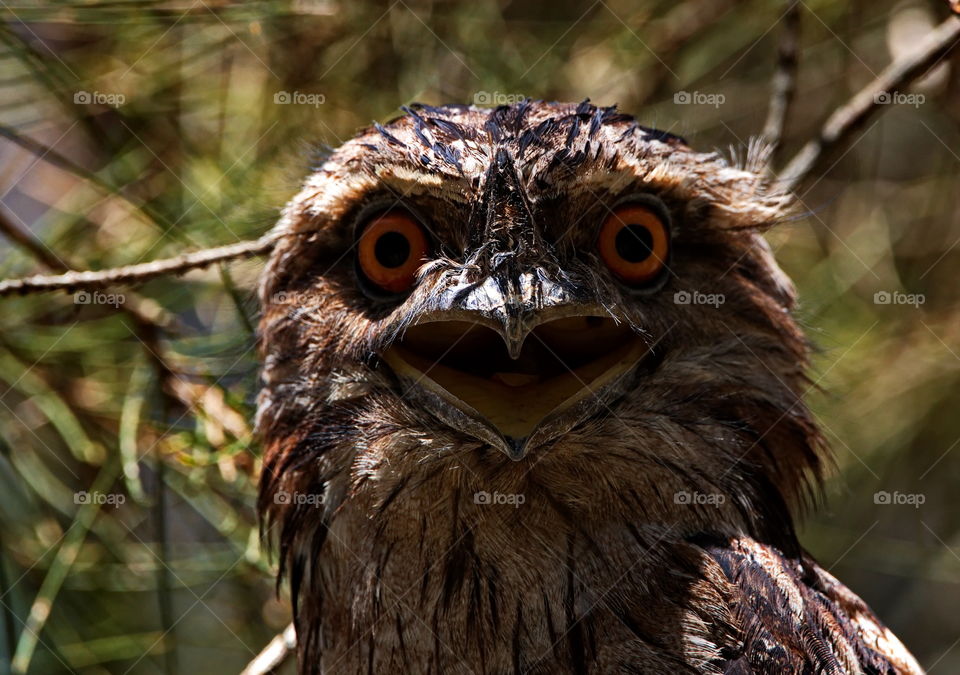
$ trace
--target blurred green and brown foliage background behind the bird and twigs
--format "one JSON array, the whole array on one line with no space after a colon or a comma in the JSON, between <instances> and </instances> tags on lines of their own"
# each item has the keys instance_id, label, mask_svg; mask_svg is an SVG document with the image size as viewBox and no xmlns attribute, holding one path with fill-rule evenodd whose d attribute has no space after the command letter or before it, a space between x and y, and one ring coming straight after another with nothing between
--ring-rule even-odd
<instances>
[{"instance_id":1,"label":"blurred green and brown foliage background behind the bird and twigs","mask_svg":"<svg viewBox=\"0 0 960 675\"><path fill-rule=\"evenodd\" d=\"M780 166L949 14L800 6ZM589 97L742 155L785 8L0 0L0 277L255 238L323 148L412 101ZM957 673L960 50L885 105L769 235L836 453L802 540ZM253 506L261 266L0 300L0 672L238 673L289 622Z\"/></svg>"}]
</instances>

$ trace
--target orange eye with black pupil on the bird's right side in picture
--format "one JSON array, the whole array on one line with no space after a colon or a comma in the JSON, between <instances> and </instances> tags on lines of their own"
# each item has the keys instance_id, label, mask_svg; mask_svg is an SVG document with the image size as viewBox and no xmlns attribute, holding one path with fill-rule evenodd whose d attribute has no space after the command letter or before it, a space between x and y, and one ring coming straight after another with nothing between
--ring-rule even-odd
<instances>
[{"instance_id":1,"label":"orange eye with black pupil on the bird's right side in picture","mask_svg":"<svg viewBox=\"0 0 960 675\"><path fill-rule=\"evenodd\" d=\"M670 236L656 213L639 204L628 204L607 216L597 249L614 276L638 285L651 281L663 269Z\"/></svg>"}]
</instances>

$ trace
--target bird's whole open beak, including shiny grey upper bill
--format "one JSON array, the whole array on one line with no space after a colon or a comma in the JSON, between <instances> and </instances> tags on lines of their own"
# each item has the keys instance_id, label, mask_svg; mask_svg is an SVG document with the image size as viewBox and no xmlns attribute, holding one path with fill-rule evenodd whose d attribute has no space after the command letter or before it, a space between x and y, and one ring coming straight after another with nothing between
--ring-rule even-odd
<instances>
[{"instance_id":1,"label":"bird's whole open beak, including shiny grey upper bill","mask_svg":"<svg viewBox=\"0 0 960 675\"><path fill-rule=\"evenodd\" d=\"M608 407L651 350L545 275L509 276L447 289L383 360L404 397L520 460Z\"/></svg>"}]
</instances>

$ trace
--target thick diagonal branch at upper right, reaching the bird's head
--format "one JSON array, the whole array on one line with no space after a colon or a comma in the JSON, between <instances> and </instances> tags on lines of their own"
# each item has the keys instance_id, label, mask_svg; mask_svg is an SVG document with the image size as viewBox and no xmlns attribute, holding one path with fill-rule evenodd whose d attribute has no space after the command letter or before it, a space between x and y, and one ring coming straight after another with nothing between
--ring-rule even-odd
<instances>
[{"instance_id":1,"label":"thick diagonal branch at upper right, reaching the bird's head","mask_svg":"<svg viewBox=\"0 0 960 675\"><path fill-rule=\"evenodd\" d=\"M927 34L910 54L884 68L876 79L837 109L817 138L807 143L780 172L785 191L795 190L832 150L841 146L893 94L910 86L960 42L960 19L950 17Z\"/></svg>"}]
</instances>

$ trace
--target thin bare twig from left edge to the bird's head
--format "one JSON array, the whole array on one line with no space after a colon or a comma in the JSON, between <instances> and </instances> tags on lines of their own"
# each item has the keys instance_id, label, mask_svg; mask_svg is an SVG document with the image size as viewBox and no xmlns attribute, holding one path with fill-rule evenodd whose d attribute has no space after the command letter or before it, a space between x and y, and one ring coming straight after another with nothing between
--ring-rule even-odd
<instances>
[{"instance_id":1,"label":"thin bare twig from left edge to the bird's head","mask_svg":"<svg viewBox=\"0 0 960 675\"><path fill-rule=\"evenodd\" d=\"M0 297L13 294L42 293L63 290L95 290L112 285L137 284L167 274L183 274L213 263L249 258L269 253L279 235L269 232L259 239L241 241L202 251L181 253L173 258L153 260L138 265L112 267L87 272L66 272L50 276L37 275L25 279L0 281Z\"/></svg>"}]
</instances>

